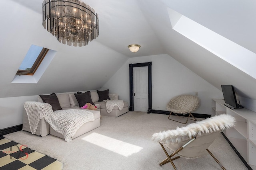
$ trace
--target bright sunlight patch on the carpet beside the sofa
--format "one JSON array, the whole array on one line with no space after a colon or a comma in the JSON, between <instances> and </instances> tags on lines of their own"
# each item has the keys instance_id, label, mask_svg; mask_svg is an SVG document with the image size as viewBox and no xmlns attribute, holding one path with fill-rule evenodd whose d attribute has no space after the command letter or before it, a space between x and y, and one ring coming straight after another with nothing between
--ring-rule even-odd
<instances>
[{"instance_id":1,"label":"bright sunlight patch on the carpet beside the sofa","mask_svg":"<svg viewBox=\"0 0 256 170\"><path fill-rule=\"evenodd\" d=\"M90 135L83 137L82 140L126 157L131 156L132 154L143 149L142 147L138 147L136 145L132 145L130 143L113 139L98 133L91 133Z\"/></svg>"}]
</instances>

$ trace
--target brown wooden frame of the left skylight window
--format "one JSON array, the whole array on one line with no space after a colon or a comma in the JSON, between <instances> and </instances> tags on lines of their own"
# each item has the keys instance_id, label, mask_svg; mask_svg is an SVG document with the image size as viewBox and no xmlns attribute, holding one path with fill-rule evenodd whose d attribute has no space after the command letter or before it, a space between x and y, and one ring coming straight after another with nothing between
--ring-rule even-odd
<instances>
[{"instance_id":1,"label":"brown wooden frame of the left skylight window","mask_svg":"<svg viewBox=\"0 0 256 170\"><path fill-rule=\"evenodd\" d=\"M48 53L49 49L44 48L41 50L40 54L38 55L36 61L34 62L34 64L32 65L30 70L18 70L16 72L17 75L30 75L33 76L34 73L36 72L37 68L39 67L39 65L42 63L44 57L46 56L46 54Z\"/></svg>"}]
</instances>

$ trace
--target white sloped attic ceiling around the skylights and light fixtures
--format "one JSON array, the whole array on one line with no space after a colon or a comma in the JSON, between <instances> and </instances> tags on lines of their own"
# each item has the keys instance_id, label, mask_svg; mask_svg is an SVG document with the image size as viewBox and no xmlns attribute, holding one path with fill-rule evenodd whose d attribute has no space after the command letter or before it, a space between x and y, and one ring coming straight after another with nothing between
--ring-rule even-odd
<instances>
[{"instance_id":1,"label":"white sloped attic ceiling around the skylights and light fixtures","mask_svg":"<svg viewBox=\"0 0 256 170\"><path fill-rule=\"evenodd\" d=\"M216 88L233 84L240 96L256 99L256 80L174 31L166 9L256 53L255 1L82 1L94 8L100 21L99 37L85 47L62 45L42 27L42 0L0 2L0 67L6 71L0 73L0 98L98 89L129 57L168 54ZM134 43L141 45L137 53L127 47ZM58 53L37 84L12 84L31 44Z\"/></svg>"}]
</instances>

